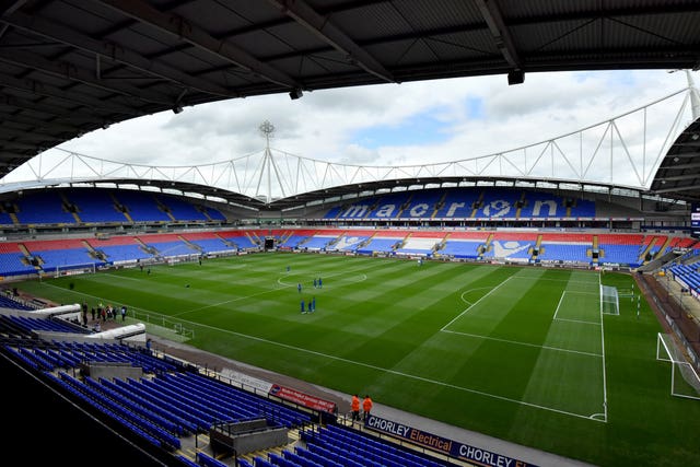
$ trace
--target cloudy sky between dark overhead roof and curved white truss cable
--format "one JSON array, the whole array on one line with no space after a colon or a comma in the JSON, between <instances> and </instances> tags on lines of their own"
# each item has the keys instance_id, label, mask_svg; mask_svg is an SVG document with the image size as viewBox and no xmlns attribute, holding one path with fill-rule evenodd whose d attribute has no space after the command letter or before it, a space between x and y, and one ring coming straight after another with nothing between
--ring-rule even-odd
<instances>
[{"instance_id":1,"label":"cloudy sky between dark overhead roof and curved white truss cable","mask_svg":"<svg viewBox=\"0 0 700 467\"><path fill-rule=\"evenodd\" d=\"M294 101L275 94L140 117L60 148L119 162L199 165L262 151L258 128L269 120L270 145L285 153L359 165L438 163L574 132L686 86L685 73L595 71L528 73L518 85L492 75L304 92Z\"/></svg>"}]
</instances>

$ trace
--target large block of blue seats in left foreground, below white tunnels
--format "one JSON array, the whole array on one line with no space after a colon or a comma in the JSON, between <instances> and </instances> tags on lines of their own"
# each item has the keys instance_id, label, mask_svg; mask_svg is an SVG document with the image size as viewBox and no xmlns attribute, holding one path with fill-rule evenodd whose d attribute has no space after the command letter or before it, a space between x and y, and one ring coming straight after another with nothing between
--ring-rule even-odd
<instances>
[{"instance_id":1,"label":"large block of blue seats in left foreground, below white tunnels","mask_svg":"<svg viewBox=\"0 0 700 467\"><path fill-rule=\"evenodd\" d=\"M43 372L66 392L121 423L155 446L173 452L186 434L208 432L217 422L265 419L268 427L301 428L308 413L191 372L176 361L163 361L144 349L104 342L3 345L25 366ZM136 378L75 376L85 361L126 362L142 367ZM200 465L218 466L202 454Z\"/></svg>"}]
</instances>

